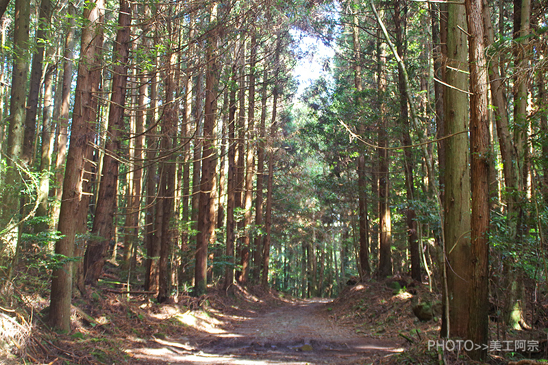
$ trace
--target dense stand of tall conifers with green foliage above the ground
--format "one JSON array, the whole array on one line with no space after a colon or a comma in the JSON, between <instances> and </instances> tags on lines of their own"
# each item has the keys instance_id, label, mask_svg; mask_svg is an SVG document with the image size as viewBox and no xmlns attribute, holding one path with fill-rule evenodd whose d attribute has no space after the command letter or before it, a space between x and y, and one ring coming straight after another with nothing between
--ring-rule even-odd
<instances>
[{"instance_id":1,"label":"dense stand of tall conifers with green foliage above the ground","mask_svg":"<svg viewBox=\"0 0 548 365\"><path fill-rule=\"evenodd\" d=\"M112 275L156 303L410 277L439 294L442 338L548 324L546 0L0 16L0 309L41 291L71 331ZM323 71L298 91L306 60Z\"/></svg>"}]
</instances>

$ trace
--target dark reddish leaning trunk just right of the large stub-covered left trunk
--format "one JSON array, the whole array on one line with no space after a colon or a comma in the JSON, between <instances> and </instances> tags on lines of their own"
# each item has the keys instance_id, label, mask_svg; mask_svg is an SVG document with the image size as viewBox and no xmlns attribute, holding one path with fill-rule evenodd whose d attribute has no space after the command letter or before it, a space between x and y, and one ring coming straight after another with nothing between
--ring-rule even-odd
<instances>
[{"instance_id":1,"label":"dark reddish leaning trunk just right of the large stub-covered left trunk","mask_svg":"<svg viewBox=\"0 0 548 365\"><path fill-rule=\"evenodd\" d=\"M116 202L116 181L118 180L120 140L124 128L124 105L129 62L129 25L132 22L132 8L128 0L120 0L118 31L114 42L114 72L112 73L112 95L108 113L107 142L101 172L101 185L97 195L95 218L91 229L92 238L84 255L84 276L86 284L97 284L112 238L112 223Z\"/></svg>"}]
</instances>

